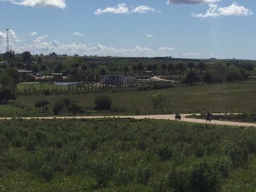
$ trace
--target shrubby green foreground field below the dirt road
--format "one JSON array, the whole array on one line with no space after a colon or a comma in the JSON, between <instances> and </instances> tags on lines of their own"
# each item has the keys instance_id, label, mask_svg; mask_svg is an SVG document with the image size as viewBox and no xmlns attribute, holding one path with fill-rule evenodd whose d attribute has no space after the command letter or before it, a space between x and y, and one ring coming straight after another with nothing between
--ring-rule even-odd
<instances>
[{"instance_id":1,"label":"shrubby green foreground field below the dirt road","mask_svg":"<svg viewBox=\"0 0 256 192\"><path fill-rule=\"evenodd\" d=\"M255 137L169 120L1 120L0 191L255 191Z\"/></svg>"}]
</instances>

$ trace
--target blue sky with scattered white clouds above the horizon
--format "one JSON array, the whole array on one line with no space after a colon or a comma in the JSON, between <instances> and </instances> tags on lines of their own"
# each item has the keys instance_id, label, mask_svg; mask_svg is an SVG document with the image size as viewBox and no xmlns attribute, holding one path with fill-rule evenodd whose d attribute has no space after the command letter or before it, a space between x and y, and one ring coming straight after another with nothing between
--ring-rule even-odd
<instances>
[{"instance_id":1,"label":"blue sky with scattered white clouds above the horizon","mask_svg":"<svg viewBox=\"0 0 256 192\"><path fill-rule=\"evenodd\" d=\"M256 59L255 0L0 0L1 53Z\"/></svg>"}]
</instances>

